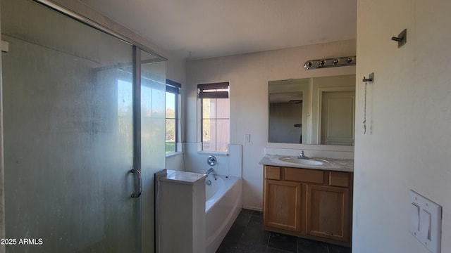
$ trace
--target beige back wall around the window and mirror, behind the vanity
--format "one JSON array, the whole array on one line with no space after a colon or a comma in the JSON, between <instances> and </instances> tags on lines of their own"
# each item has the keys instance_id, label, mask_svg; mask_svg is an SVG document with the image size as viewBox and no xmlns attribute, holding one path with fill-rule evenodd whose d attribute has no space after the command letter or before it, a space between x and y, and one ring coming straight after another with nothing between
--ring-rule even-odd
<instances>
[{"instance_id":1,"label":"beige back wall around the window and mirror, behind the vanity","mask_svg":"<svg viewBox=\"0 0 451 253\"><path fill-rule=\"evenodd\" d=\"M268 81L354 74L355 67L304 70L307 60L354 56L356 41L300 46L237 56L187 62L186 138L199 139L196 85L206 82L230 82L230 143L242 146L243 205L262 208L262 166L268 134ZM358 60L357 60L358 61ZM244 143L245 134L251 142ZM302 148L307 145L297 144Z\"/></svg>"}]
</instances>

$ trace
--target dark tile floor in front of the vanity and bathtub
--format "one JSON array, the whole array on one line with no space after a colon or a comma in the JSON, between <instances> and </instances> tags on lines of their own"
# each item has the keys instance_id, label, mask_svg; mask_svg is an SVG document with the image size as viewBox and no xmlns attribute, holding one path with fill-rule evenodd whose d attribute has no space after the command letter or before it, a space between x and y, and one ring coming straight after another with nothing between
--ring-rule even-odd
<instances>
[{"instance_id":1,"label":"dark tile floor in front of the vanity and bathtub","mask_svg":"<svg viewBox=\"0 0 451 253\"><path fill-rule=\"evenodd\" d=\"M261 212L242 209L217 253L351 253L348 247L265 231Z\"/></svg>"}]
</instances>

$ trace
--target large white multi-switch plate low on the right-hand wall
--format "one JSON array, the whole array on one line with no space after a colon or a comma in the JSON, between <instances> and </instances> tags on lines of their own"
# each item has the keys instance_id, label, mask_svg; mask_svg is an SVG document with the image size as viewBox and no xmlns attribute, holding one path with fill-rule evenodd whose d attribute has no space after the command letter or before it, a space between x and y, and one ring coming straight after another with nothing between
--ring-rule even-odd
<instances>
[{"instance_id":1,"label":"large white multi-switch plate low on the right-hand wall","mask_svg":"<svg viewBox=\"0 0 451 253\"><path fill-rule=\"evenodd\" d=\"M409 231L433 253L440 253L442 207L409 190Z\"/></svg>"}]
</instances>

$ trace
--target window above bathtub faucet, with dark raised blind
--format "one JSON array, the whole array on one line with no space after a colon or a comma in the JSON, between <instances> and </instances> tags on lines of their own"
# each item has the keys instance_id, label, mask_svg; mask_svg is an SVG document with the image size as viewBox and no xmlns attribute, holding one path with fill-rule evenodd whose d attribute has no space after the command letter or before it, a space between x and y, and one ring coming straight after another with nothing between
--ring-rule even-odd
<instances>
[{"instance_id":1,"label":"window above bathtub faucet, with dark raised blind","mask_svg":"<svg viewBox=\"0 0 451 253\"><path fill-rule=\"evenodd\" d=\"M229 84L198 84L202 106L202 150L226 152L230 136Z\"/></svg>"}]
</instances>

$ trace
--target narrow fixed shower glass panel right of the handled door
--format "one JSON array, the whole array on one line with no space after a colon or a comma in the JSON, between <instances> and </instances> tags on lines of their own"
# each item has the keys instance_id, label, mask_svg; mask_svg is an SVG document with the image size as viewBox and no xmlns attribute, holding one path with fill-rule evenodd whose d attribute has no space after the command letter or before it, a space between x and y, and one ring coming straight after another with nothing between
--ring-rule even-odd
<instances>
[{"instance_id":1,"label":"narrow fixed shower glass panel right of the handled door","mask_svg":"<svg viewBox=\"0 0 451 253\"><path fill-rule=\"evenodd\" d=\"M154 173L164 169L166 160L166 63L144 51L140 58L142 223L146 224L142 235L154 238ZM143 240L144 251L154 247L152 240Z\"/></svg>"}]
</instances>

